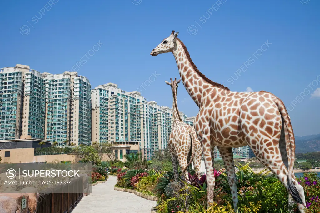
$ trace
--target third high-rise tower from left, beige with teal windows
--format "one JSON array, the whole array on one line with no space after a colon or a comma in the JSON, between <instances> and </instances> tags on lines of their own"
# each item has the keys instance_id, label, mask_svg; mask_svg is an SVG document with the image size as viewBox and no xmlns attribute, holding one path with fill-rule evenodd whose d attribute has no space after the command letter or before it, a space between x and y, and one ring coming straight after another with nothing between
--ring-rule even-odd
<instances>
[{"instance_id":1,"label":"third high-rise tower from left, beige with teal windows","mask_svg":"<svg viewBox=\"0 0 320 213\"><path fill-rule=\"evenodd\" d=\"M146 99L140 92L126 92L107 83L92 90L92 141L138 141L136 105Z\"/></svg>"}]
</instances>

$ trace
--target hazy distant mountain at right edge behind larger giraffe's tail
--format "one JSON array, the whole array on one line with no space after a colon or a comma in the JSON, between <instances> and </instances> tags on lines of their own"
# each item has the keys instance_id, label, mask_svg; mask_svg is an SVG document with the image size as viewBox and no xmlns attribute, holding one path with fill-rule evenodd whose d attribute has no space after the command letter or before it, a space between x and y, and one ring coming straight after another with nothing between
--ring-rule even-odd
<instances>
[{"instance_id":1,"label":"hazy distant mountain at right edge behind larger giraffe's tail","mask_svg":"<svg viewBox=\"0 0 320 213\"><path fill-rule=\"evenodd\" d=\"M295 136L296 153L320 152L320 134Z\"/></svg>"}]
</instances>

